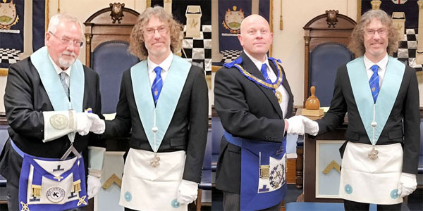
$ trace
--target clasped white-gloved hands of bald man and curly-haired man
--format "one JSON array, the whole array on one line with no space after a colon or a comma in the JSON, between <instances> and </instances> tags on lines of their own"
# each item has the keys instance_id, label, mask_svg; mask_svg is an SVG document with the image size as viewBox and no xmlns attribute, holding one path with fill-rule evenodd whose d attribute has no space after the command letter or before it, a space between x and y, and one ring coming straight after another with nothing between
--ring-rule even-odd
<instances>
[{"instance_id":1,"label":"clasped white-gloved hands of bald man and curly-haired man","mask_svg":"<svg viewBox=\"0 0 423 211\"><path fill-rule=\"evenodd\" d=\"M319 132L319 124L302 115L290 117L286 119L286 122L288 122L286 130L288 134L304 135L306 133L315 136Z\"/></svg>"}]
</instances>

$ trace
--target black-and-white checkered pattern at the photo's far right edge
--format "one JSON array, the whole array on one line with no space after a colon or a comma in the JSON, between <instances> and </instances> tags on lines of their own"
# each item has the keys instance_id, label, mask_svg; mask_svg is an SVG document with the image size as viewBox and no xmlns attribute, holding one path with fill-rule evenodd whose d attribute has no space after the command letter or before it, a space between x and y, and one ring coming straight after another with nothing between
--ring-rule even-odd
<instances>
[{"instance_id":1,"label":"black-and-white checkered pattern at the photo's far right edge","mask_svg":"<svg viewBox=\"0 0 423 211\"><path fill-rule=\"evenodd\" d=\"M393 53L393 57L415 68L416 71L422 71L423 65L416 64L417 36L417 29L405 29L404 39L400 40L398 51Z\"/></svg>"}]
</instances>

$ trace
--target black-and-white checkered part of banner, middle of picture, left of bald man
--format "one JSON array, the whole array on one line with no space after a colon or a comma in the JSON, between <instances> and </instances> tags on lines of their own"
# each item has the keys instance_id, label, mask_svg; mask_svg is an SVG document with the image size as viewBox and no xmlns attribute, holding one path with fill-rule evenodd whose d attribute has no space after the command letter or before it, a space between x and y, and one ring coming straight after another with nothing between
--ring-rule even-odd
<instances>
[{"instance_id":1,"label":"black-and-white checkered part of banner, middle of picture, left of bald man","mask_svg":"<svg viewBox=\"0 0 423 211\"><path fill-rule=\"evenodd\" d=\"M185 36L186 25L183 27ZM207 74L212 74L212 25L202 25L200 37L185 37L182 57L193 65L199 65Z\"/></svg>"}]
</instances>

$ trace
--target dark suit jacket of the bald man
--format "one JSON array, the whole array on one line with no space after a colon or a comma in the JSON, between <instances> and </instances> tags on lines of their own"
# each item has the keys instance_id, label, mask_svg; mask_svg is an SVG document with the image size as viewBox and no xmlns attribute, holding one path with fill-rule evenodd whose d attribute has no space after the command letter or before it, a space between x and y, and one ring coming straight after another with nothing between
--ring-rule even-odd
<instances>
[{"instance_id":1,"label":"dark suit jacket of the bald man","mask_svg":"<svg viewBox=\"0 0 423 211\"><path fill-rule=\"evenodd\" d=\"M244 52L241 57L243 63L240 65L255 77L264 80L262 72ZM270 65L274 71L277 70L273 63L270 62ZM284 71L283 75L282 85L290 96L286 114L288 118L293 113L293 94ZM216 72L214 108L221 118L223 128L233 136L262 141L283 141L285 122L274 92L250 81L235 67L223 67ZM222 138L216 169L216 187L222 191L240 193L240 151L238 146Z\"/></svg>"}]
</instances>

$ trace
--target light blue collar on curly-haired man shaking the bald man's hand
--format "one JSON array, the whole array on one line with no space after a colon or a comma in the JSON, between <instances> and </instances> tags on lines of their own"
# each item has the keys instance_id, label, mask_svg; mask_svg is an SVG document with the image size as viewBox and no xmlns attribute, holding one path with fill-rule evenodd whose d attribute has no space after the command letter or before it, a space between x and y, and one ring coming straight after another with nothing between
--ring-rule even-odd
<instances>
[{"instance_id":1,"label":"light blue collar on curly-haired man shaking the bald man's hand","mask_svg":"<svg viewBox=\"0 0 423 211\"><path fill-rule=\"evenodd\" d=\"M405 72L405 65L391 56L388 57L388 66L384 75L384 82L379 89L379 96L376 101L376 117L377 126L374 130L373 140L373 106L374 101L372 91L369 86L366 68L364 67L363 56L350 61L347 64L348 76L350 77L351 87L355 103L357 103L358 112L366 129L372 144L376 144L382 130L388 120L393 103L396 101L398 91Z\"/></svg>"}]
</instances>

